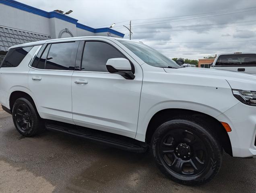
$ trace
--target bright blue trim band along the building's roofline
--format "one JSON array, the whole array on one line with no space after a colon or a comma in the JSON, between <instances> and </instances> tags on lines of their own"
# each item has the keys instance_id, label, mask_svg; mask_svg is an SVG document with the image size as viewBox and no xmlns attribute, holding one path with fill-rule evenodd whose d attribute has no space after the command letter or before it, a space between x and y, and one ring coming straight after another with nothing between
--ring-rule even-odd
<instances>
[{"instance_id":1,"label":"bright blue trim band along the building's roofline","mask_svg":"<svg viewBox=\"0 0 256 193\"><path fill-rule=\"evenodd\" d=\"M26 11L26 12L30 12L30 13L33 13L33 14L37 14L39 16L43 16L43 17L46 17L46 18L58 18L58 19L61 19L63 21L67 21L69 23L75 24L77 28L84 29L84 30L87 30L87 31L91 31L93 33L109 32L109 33L118 35L120 37L124 37L123 33L119 32L119 31L116 31L114 29L110 29L109 27L96 28L95 29L93 27L89 27L87 25L83 25L81 23L78 23L77 19L72 18L72 17L67 16L67 15L64 15L64 14L61 14L61 13L58 13L56 11L47 12L45 10L41 10L39 8L35 8L35 7L29 6L27 4L23 4L21 2L17 2L17 1L14 1L14 0L0 0L0 4L11 6L11 7L14 7L14 8Z\"/></svg>"}]
</instances>

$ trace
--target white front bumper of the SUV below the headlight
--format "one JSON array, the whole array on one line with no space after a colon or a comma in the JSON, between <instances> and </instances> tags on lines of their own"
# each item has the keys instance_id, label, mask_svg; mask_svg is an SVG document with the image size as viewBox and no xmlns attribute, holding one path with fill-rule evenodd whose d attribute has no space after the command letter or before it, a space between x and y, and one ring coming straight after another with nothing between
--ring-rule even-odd
<instances>
[{"instance_id":1,"label":"white front bumper of the SUV below the headlight","mask_svg":"<svg viewBox=\"0 0 256 193\"><path fill-rule=\"evenodd\" d=\"M234 157L256 158L256 107L238 103L216 119L232 129L228 135Z\"/></svg>"}]
</instances>

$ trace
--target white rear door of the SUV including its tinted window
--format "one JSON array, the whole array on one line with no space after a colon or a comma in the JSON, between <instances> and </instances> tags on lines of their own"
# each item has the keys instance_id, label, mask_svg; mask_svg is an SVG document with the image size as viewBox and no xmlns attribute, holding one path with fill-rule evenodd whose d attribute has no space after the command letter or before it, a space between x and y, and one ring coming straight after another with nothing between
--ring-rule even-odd
<instances>
[{"instance_id":1,"label":"white rear door of the SUV including its tinted window","mask_svg":"<svg viewBox=\"0 0 256 193\"><path fill-rule=\"evenodd\" d=\"M44 119L74 123L71 80L78 41L43 45L29 71L28 82Z\"/></svg>"}]
</instances>

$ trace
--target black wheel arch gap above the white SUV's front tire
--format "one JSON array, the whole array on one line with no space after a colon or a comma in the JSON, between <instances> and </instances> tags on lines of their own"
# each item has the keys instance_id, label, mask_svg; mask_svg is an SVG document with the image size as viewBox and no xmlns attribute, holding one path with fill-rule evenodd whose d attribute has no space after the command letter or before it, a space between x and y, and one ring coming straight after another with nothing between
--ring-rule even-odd
<instances>
[{"instance_id":1,"label":"black wheel arch gap above the white SUV's front tire","mask_svg":"<svg viewBox=\"0 0 256 193\"><path fill-rule=\"evenodd\" d=\"M193 116L209 123L209 125L211 125L211 130L217 135L218 140L220 141L221 146L223 147L225 152L227 152L231 156L233 155L231 142L227 134L227 131L225 130L223 125L211 115L207 115L202 112L188 109L163 109L155 113L155 115L153 115L153 117L150 119L149 124L147 126L145 142L147 142L147 144L150 144L155 129L159 125L161 125L161 123L167 121L171 117L180 116Z\"/></svg>"}]
</instances>

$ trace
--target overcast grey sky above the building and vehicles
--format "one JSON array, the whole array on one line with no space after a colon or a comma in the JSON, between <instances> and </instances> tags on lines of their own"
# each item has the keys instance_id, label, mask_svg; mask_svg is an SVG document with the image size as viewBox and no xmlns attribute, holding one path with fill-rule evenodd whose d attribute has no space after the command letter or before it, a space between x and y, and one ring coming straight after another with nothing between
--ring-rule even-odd
<instances>
[{"instance_id":1,"label":"overcast grey sky above the building and vehicles","mask_svg":"<svg viewBox=\"0 0 256 193\"><path fill-rule=\"evenodd\" d=\"M256 51L255 0L18 1L46 11L71 9L69 16L90 27L116 23L113 29L124 33L125 39L129 38L128 30L122 25L128 27L132 20L132 39L171 58Z\"/></svg>"}]
</instances>

